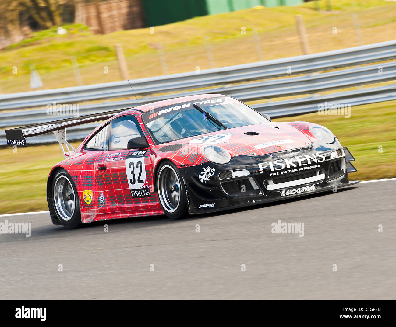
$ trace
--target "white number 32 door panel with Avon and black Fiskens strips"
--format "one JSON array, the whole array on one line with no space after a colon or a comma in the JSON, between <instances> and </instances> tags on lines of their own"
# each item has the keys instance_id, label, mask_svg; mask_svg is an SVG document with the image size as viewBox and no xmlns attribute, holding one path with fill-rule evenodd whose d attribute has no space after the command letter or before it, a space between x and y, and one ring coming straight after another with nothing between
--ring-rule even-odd
<instances>
[{"instance_id":1,"label":"white number 32 door panel with Avon and black Fiskens strips","mask_svg":"<svg viewBox=\"0 0 396 327\"><path fill-rule=\"evenodd\" d=\"M145 153L143 151L130 151L125 159L126 177L132 198L150 197L150 189L146 182Z\"/></svg>"}]
</instances>

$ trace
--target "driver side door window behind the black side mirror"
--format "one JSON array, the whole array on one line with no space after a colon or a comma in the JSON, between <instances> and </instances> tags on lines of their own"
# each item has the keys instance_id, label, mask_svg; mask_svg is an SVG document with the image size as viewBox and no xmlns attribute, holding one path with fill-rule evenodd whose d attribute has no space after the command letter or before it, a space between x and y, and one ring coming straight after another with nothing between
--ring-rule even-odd
<instances>
[{"instance_id":1,"label":"driver side door window behind the black side mirror","mask_svg":"<svg viewBox=\"0 0 396 327\"><path fill-rule=\"evenodd\" d=\"M114 119L111 122L110 150L126 150L131 138L143 136L134 116Z\"/></svg>"}]
</instances>

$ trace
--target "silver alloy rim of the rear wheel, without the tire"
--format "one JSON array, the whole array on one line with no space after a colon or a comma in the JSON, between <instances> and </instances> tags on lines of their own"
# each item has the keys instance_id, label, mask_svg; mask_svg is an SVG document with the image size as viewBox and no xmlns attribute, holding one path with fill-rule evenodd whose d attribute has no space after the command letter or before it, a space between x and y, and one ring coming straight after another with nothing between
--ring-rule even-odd
<instances>
[{"instance_id":1,"label":"silver alloy rim of the rear wheel, without the tire","mask_svg":"<svg viewBox=\"0 0 396 327\"><path fill-rule=\"evenodd\" d=\"M69 179L64 176L58 176L53 186L53 199L57 213L65 221L70 220L74 214L76 206L76 197L74 189Z\"/></svg>"}]
</instances>

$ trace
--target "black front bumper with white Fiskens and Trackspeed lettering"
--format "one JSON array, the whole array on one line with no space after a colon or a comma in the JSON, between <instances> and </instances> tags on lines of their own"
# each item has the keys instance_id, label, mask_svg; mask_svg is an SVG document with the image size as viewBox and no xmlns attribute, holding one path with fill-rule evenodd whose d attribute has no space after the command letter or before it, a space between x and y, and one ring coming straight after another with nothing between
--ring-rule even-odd
<instances>
[{"instance_id":1,"label":"black front bumper with white Fiskens and Trackspeed lettering","mask_svg":"<svg viewBox=\"0 0 396 327\"><path fill-rule=\"evenodd\" d=\"M227 164L180 168L190 214L216 212L273 202L354 185L348 172L354 158L338 143L280 151L265 156L236 156Z\"/></svg>"}]
</instances>

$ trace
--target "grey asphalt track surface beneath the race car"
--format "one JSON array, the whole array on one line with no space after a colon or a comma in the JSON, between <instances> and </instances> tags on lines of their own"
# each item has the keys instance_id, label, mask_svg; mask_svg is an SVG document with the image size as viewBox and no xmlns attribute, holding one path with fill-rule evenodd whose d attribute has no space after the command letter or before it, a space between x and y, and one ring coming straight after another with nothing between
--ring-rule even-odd
<instances>
[{"instance_id":1,"label":"grey asphalt track surface beneath the race car","mask_svg":"<svg viewBox=\"0 0 396 327\"><path fill-rule=\"evenodd\" d=\"M395 299L395 189L395 180L379 181L76 230L46 213L3 216L31 222L32 236L0 234L0 299ZM272 234L278 219L303 222L305 235Z\"/></svg>"}]
</instances>

